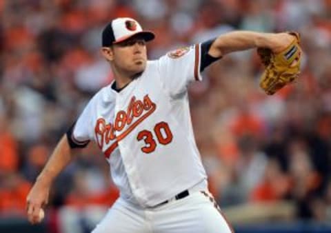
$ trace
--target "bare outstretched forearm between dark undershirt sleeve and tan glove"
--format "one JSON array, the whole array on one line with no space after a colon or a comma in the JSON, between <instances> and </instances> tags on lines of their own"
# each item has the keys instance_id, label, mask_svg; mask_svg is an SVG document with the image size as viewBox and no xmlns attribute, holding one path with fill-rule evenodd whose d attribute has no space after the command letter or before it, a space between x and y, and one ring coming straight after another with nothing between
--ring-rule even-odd
<instances>
[{"instance_id":1,"label":"bare outstretched forearm between dark undershirt sleeve and tan glove","mask_svg":"<svg viewBox=\"0 0 331 233\"><path fill-rule=\"evenodd\" d=\"M212 43L210 55L222 57L230 52L248 50L250 48L271 48L274 41L273 33L250 31L234 31L222 34Z\"/></svg>"}]
</instances>

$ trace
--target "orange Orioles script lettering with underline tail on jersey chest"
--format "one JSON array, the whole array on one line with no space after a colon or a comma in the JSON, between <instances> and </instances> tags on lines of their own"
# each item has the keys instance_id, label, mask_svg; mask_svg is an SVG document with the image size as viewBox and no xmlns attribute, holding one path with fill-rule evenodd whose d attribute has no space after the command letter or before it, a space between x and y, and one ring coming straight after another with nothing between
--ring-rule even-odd
<instances>
[{"instance_id":1,"label":"orange Orioles script lettering with underline tail on jersey chest","mask_svg":"<svg viewBox=\"0 0 331 233\"><path fill-rule=\"evenodd\" d=\"M157 105L146 94L143 97L143 101L132 97L127 110L117 112L114 123L106 123L106 120L103 118L97 119L94 132L99 148L102 149L105 143L107 145L110 141L116 139L104 152L105 156L108 158L112 151L117 148L118 142L125 138L139 123L149 117L156 108ZM124 128L126 129L123 130ZM121 134L115 134L115 132L121 132Z\"/></svg>"}]
</instances>

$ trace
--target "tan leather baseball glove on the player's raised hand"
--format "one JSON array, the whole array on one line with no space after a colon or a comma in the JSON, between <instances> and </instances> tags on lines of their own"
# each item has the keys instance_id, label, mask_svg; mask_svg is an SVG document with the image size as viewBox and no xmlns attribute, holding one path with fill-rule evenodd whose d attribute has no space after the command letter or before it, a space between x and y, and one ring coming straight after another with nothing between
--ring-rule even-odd
<instances>
[{"instance_id":1,"label":"tan leather baseball glove on the player's raised hand","mask_svg":"<svg viewBox=\"0 0 331 233\"><path fill-rule=\"evenodd\" d=\"M260 87L266 94L274 94L284 85L292 83L300 74L301 48L300 35L288 32L296 38L282 52L274 54L268 48L258 48L257 53L265 66Z\"/></svg>"}]
</instances>

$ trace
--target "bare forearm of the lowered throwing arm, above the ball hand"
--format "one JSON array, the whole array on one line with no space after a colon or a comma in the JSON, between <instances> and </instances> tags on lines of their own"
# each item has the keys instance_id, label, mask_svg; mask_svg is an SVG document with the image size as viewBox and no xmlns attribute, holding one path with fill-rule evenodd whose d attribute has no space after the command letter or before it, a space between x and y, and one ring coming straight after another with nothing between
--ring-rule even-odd
<instances>
[{"instance_id":1,"label":"bare forearm of the lowered throwing arm, above the ball hand","mask_svg":"<svg viewBox=\"0 0 331 233\"><path fill-rule=\"evenodd\" d=\"M70 161L72 161L72 153L65 134L39 174L37 182L50 185L59 173L66 168Z\"/></svg>"}]
</instances>

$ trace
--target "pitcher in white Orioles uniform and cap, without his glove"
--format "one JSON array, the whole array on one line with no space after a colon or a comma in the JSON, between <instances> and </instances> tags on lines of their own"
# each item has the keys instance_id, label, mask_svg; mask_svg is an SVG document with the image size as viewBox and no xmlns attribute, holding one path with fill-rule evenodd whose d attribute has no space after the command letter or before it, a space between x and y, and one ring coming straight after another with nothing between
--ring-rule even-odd
<instances>
[{"instance_id":1,"label":"pitcher in white Orioles uniform and cap, without his glove","mask_svg":"<svg viewBox=\"0 0 331 233\"><path fill-rule=\"evenodd\" d=\"M286 33L229 32L148 61L154 34L130 18L112 20L102 33L103 57L114 81L92 97L63 135L27 197L28 219L38 223L54 178L72 160L72 150L95 141L120 190L93 233L233 232L208 192L194 141L188 84L229 52L270 48L292 41Z\"/></svg>"}]
</instances>

